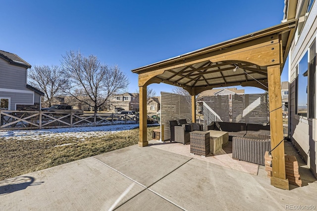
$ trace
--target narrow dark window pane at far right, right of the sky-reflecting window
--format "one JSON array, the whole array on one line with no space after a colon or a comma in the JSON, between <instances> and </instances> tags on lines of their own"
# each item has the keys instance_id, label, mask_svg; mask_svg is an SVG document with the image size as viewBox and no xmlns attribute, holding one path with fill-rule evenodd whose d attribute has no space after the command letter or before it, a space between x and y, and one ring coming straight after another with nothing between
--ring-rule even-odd
<instances>
[{"instance_id":1,"label":"narrow dark window pane at far right, right of the sky-reflecting window","mask_svg":"<svg viewBox=\"0 0 317 211\"><path fill-rule=\"evenodd\" d=\"M309 67L308 67L308 117L315 118L316 108L316 41L309 48Z\"/></svg>"}]
</instances>

